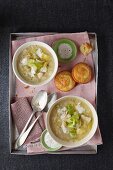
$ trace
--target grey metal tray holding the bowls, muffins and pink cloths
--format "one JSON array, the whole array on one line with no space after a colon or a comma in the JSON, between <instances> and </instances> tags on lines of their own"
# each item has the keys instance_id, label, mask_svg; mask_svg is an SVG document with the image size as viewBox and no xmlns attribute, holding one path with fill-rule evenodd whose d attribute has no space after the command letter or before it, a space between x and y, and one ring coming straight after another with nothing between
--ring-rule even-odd
<instances>
[{"instance_id":1,"label":"grey metal tray holding the bowls, muffins and pink cloths","mask_svg":"<svg viewBox=\"0 0 113 170\"><path fill-rule=\"evenodd\" d=\"M55 34L55 33L11 33L10 34L10 46L9 46L9 146L11 154L28 155L25 149L15 151L13 149L13 143L17 132L15 130L14 124L12 122L11 116L11 101L15 96L15 76L12 71L12 55L11 55L11 41L17 39L23 39L28 37L36 37L45 34ZM97 106L97 84L98 84L98 47L97 47L97 36L95 33L88 33L91 43L94 46L94 51L92 53L95 68L95 81L96 81L96 106ZM86 145L76 149L62 151L62 152L52 152L51 154L96 154L97 145ZM36 154L36 153L35 153ZM39 153L37 153L39 154Z\"/></svg>"}]
</instances>

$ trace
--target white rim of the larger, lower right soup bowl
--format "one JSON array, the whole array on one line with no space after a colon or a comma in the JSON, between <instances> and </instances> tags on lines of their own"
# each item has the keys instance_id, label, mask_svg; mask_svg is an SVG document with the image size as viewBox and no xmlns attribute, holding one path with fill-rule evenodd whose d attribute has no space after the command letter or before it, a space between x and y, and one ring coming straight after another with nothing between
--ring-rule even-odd
<instances>
[{"instance_id":1,"label":"white rim of the larger, lower right soup bowl","mask_svg":"<svg viewBox=\"0 0 113 170\"><path fill-rule=\"evenodd\" d=\"M92 116L93 116L93 125L92 125L92 128L90 130L90 132L83 138L81 139L80 141L76 141L76 142L67 142L67 141L63 141L61 139L59 139L57 136L55 136L55 134L53 133L53 131L51 130L51 126L50 126L50 116L51 116L51 111L53 109L53 107L60 103L60 101L64 100L64 99L67 99L68 98L74 98L74 99L79 99L81 100L82 102L86 103L88 105L88 107L91 109L92 111ZM93 135L95 134L96 132L96 129L97 129L97 126L98 126L98 117L97 117L97 113L96 113L96 110L94 109L94 107L92 106L91 103L89 103L86 99L82 98L82 97L78 97L78 96L65 96L65 97L62 97L60 99L58 99L52 106L51 108L49 109L48 113L47 113L47 117L46 117L46 128L48 130L48 132L50 133L51 137L56 141L58 142L59 144L61 144L62 146L66 146L66 147L79 147L81 145L84 145L85 143L87 143L92 137Z\"/></svg>"}]
</instances>

